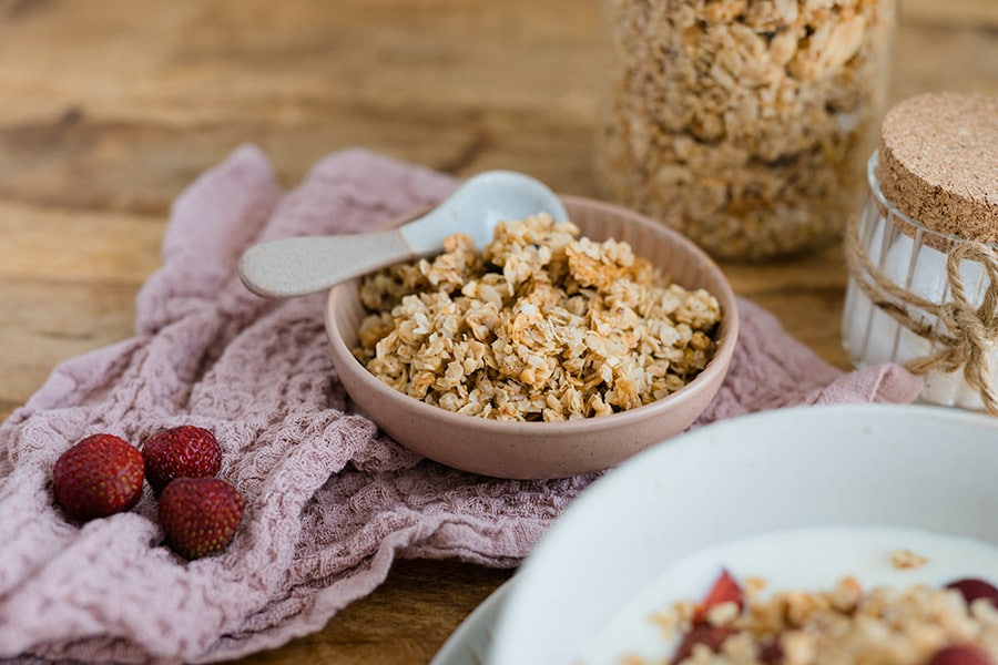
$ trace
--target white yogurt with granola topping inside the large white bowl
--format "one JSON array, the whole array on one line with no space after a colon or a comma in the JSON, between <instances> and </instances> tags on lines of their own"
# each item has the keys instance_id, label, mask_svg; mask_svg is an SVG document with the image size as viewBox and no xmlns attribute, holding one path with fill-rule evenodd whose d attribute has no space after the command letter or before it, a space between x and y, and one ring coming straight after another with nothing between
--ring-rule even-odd
<instances>
[{"instance_id":1,"label":"white yogurt with granola topping inside the large white bowl","mask_svg":"<svg viewBox=\"0 0 998 665\"><path fill-rule=\"evenodd\" d=\"M795 632L804 637L791 637L793 642L785 643L787 649L809 651L824 645L822 651L835 653L823 653L823 657L843 662L849 654L868 656L870 635L886 632L890 634L890 651L918 653L928 662L954 636L963 638L968 632L987 630L994 635L990 640L998 637L998 608L994 604L981 621L965 606L968 603L961 602L958 590L951 592L957 594L953 598L944 595L954 583L972 581L979 587L988 580L998 580L998 546L984 540L857 525L765 533L709 548L670 565L592 635L582 647L582 662L675 662L683 642L689 642L683 651L689 654L694 643L709 644L719 636L727 640L739 632L747 641L737 647L729 645L727 656L733 651L744 654L748 643L773 654L774 646L778 649L781 640ZM748 607L735 614L734 607L719 607L714 601L691 623L691 614L705 608L701 598L711 596L705 590L713 591L715 584L720 589L724 583L736 585L737 601L723 595L716 601ZM996 594L998 590L992 587L989 598ZM889 613L880 612L885 605L892 605ZM719 612L710 617L714 607L724 610L727 616ZM946 618L940 621L944 608ZM797 615L786 616L792 613ZM890 613L905 615L892 617ZM828 621L829 615L834 621ZM954 625L946 634L939 624ZM699 631L703 625L722 630L704 635ZM834 648L828 648L828 642ZM898 661L905 662L906 655ZM774 655L765 662L780 661ZM884 657L880 662L894 661Z\"/></svg>"}]
</instances>

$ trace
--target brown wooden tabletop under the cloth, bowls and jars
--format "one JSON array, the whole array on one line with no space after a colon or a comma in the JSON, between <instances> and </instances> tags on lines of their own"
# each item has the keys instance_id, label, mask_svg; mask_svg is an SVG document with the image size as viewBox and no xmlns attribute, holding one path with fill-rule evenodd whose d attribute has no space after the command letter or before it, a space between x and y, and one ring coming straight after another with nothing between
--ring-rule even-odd
<instances>
[{"instance_id":1,"label":"brown wooden tabletop under the cloth, bowls and jars","mask_svg":"<svg viewBox=\"0 0 998 665\"><path fill-rule=\"evenodd\" d=\"M996 0L900 0L892 102L998 94ZM61 360L132 335L171 200L243 142L287 185L363 145L597 195L599 2L0 0L0 418ZM821 356L839 247L724 266ZM326 628L247 663L427 663L508 571L400 562Z\"/></svg>"}]
</instances>

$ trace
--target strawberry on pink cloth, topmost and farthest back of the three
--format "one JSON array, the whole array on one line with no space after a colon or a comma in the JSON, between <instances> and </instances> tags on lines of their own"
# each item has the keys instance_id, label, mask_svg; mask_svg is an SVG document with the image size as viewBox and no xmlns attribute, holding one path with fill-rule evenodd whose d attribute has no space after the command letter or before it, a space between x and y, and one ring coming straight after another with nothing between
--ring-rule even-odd
<instances>
[{"instance_id":1,"label":"strawberry on pink cloth, topmost and farthest back of the three","mask_svg":"<svg viewBox=\"0 0 998 665\"><path fill-rule=\"evenodd\" d=\"M211 431L184 424L157 432L142 444L145 477L157 495L174 478L205 478L222 468L222 449Z\"/></svg>"}]
</instances>

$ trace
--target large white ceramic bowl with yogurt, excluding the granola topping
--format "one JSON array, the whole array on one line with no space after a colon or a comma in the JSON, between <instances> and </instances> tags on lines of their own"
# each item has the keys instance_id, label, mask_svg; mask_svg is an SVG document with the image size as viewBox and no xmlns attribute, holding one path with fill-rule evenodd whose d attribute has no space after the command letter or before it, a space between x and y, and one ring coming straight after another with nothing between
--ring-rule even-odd
<instances>
[{"instance_id":1,"label":"large white ceramic bowl with yogurt, excluding the granola topping","mask_svg":"<svg viewBox=\"0 0 998 665\"><path fill-rule=\"evenodd\" d=\"M608 654L648 640L634 624L675 596L697 600L722 565L775 589L845 574L998 581L996 471L998 419L938 407L784 409L685 433L598 480L556 521L512 579L489 663L619 663ZM930 563L898 571L870 553L887 545ZM658 640L650 648L668 657Z\"/></svg>"}]
</instances>

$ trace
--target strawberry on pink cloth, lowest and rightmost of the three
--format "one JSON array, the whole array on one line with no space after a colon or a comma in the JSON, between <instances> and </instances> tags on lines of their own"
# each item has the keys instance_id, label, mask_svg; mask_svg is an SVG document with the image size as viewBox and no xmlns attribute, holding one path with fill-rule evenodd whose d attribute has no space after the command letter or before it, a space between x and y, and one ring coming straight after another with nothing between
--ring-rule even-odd
<instances>
[{"instance_id":1,"label":"strawberry on pink cloth, lowest and rightmost of the three","mask_svg":"<svg viewBox=\"0 0 998 665\"><path fill-rule=\"evenodd\" d=\"M160 495L166 542L185 559L217 554L243 519L243 498L218 478L177 478Z\"/></svg>"}]
</instances>

